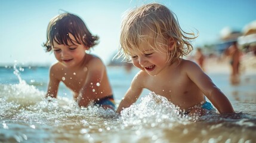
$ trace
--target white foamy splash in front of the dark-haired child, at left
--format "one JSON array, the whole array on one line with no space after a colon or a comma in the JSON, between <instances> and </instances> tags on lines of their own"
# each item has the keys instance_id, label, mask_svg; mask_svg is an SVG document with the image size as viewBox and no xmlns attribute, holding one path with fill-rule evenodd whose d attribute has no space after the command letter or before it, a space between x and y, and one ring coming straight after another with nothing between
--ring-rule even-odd
<instances>
[{"instance_id":1,"label":"white foamy splash in front of the dark-haired child, at left","mask_svg":"<svg viewBox=\"0 0 256 143\"><path fill-rule=\"evenodd\" d=\"M36 122L58 122L68 119L88 119L94 117L113 118L114 111L104 110L101 107L80 108L74 100L65 97L45 98L45 92L39 91L33 85L28 85L21 79L22 67L14 63L14 74L18 84L0 84L0 117L4 119L33 120ZM50 98L50 97L49 97ZM50 102L49 102L50 100Z\"/></svg>"}]
</instances>

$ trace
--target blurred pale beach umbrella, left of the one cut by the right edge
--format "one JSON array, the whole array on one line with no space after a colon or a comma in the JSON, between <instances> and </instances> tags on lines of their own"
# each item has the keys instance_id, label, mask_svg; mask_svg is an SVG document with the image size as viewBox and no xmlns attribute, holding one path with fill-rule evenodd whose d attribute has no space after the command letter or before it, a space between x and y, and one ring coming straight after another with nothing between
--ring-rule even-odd
<instances>
[{"instance_id":1,"label":"blurred pale beach umbrella, left of the one cut by the right edge","mask_svg":"<svg viewBox=\"0 0 256 143\"><path fill-rule=\"evenodd\" d=\"M224 27L220 31L220 38L223 41L236 41L236 39L241 35L241 32L233 30L230 27Z\"/></svg>"}]
</instances>

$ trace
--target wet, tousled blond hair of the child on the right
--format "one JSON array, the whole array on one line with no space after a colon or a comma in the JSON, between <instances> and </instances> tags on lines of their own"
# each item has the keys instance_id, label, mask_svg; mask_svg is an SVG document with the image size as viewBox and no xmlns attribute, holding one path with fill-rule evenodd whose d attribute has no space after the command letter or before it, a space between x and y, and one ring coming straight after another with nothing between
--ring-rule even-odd
<instances>
[{"instance_id":1,"label":"wet, tousled blond hair of the child on the right","mask_svg":"<svg viewBox=\"0 0 256 143\"><path fill-rule=\"evenodd\" d=\"M118 58L131 61L131 51L141 51L139 46L142 42L149 43L151 48L159 52L161 48L174 44L171 51L165 50L171 63L188 55L193 50L190 41L197 36L184 32L174 15L167 7L156 3L129 11L122 21Z\"/></svg>"}]
</instances>

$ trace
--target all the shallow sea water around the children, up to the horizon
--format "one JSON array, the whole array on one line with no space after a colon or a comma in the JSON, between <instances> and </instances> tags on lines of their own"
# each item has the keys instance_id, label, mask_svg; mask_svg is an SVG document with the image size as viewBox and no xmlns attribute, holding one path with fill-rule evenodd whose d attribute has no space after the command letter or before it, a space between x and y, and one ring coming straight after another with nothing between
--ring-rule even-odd
<instances>
[{"instance_id":1,"label":"all the shallow sea water around the children, up to the horizon","mask_svg":"<svg viewBox=\"0 0 256 143\"><path fill-rule=\"evenodd\" d=\"M107 70L119 104L137 71ZM79 108L63 85L48 102L47 67L6 66L0 73L0 142L256 142L256 74L243 74L233 86L228 73L209 73L236 114L187 117L149 91L121 116L100 107Z\"/></svg>"}]
</instances>

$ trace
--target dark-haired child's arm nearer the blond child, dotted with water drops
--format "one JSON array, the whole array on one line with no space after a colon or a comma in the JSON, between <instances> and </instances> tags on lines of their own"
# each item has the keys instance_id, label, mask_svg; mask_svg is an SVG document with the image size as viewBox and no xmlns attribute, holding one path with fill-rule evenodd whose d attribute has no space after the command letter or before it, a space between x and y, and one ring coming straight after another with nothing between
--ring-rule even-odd
<instances>
[{"instance_id":1,"label":"dark-haired child's arm nearer the blond child, dotted with water drops","mask_svg":"<svg viewBox=\"0 0 256 143\"><path fill-rule=\"evenodd\" d=\"M99 88L104 89L104 84L101 84L101 80L103 79L105 70L106 67L99 58L94 58L90 61L88 64L87 79L78 95L77 102L79 107L87 107L91 101L98 98L101 92L104 92L100 91ZM100 83L101 87L97 86L97 83Z\"/></svg>"}]
</instances>

